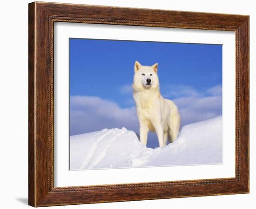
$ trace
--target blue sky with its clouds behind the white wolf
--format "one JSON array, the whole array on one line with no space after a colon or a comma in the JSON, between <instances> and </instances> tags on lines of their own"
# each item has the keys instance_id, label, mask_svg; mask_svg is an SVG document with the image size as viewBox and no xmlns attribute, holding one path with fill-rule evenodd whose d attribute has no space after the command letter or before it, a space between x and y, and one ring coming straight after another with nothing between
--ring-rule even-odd
<instances>
[{"instance_id":1,"label":"blue sky with its clouds behind the white wolf","mask_svg":"<svg viewBox=\"0 0 256 209\"><path fill-rule=\"evenodd\" d=\"M70 38L71 135L117 126L138 133L135 60L158 63L161 93L177 103L182 126L222 114L222 45Z\"/></svg>"}]
</instances>

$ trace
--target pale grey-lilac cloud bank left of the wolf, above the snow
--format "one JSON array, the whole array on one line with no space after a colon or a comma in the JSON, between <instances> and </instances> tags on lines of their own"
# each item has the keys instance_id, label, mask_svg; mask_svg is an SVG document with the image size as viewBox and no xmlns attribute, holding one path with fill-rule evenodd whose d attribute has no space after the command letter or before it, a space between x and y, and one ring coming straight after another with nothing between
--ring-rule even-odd
<instances>
[{"instance_id":1,"label":"pale grey-lilac cloud bank left of the wolf, above the snow","mask_svg":"<svg viewBox=\"0 0 256 209\"><path fill-rule=\"evenodd\" d=\"M126 127L138 133L135 107L120 108L114 101L96 96L70 97L70 135L114 127Z\"/></svg>"}]
</instances>

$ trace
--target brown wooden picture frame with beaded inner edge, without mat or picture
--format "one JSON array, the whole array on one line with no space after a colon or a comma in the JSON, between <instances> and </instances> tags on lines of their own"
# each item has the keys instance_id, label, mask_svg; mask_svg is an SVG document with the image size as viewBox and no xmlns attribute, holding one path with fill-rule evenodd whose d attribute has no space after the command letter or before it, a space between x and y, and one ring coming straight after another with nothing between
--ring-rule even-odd
<instances>
[{"instance_id":1,"label":"brown wooden picture frame with beaded inner edge, without mat or picture","mask_svg":"<svg viewBox=\"0 0 256 209\"><path fill-rule=\"evenodd\" d=\"M28 16L29 205L249 193L249 16L44 2L30 3ZM54 22L236 32L236 177L54 187Z\"/></svg>"}]
</instances>

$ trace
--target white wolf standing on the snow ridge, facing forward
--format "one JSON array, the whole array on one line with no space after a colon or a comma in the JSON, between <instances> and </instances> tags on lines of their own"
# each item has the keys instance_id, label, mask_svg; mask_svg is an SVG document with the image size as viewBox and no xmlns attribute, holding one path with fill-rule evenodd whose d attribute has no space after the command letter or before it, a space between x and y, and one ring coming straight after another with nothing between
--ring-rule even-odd
<instances>
[{"instance_id":1,"label":"white wolf standing on the snow ridge, facing forward","mask_svg":"<svg viewBox=\"0 0 256 209\"><path fill-rule=\"evenodd\" d=\"M177 106L160 94L157 63L142 66L135 62L134 100L140 122L140 139L147 145L148 131L156 132L159 146L173 142L179 133L181 118Z\"/></svg>"}]
</instances>

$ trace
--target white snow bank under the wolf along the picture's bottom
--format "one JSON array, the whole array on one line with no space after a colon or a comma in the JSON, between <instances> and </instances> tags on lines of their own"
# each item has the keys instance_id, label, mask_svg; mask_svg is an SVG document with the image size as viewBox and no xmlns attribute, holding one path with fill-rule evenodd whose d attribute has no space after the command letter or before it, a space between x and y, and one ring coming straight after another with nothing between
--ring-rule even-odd
<instances>
[{"instance_id":1,"label":"white snow bank under the wolf along the picture's bottom","mask_svg":"<svg viewBox=\"0 0 256 209\"><path fill-rule=\"evenodd\" d=\"M222 116L186 125L155 149L124 127L70 136L70 170L221 163Z\"/></svg>"}]
</instances>

